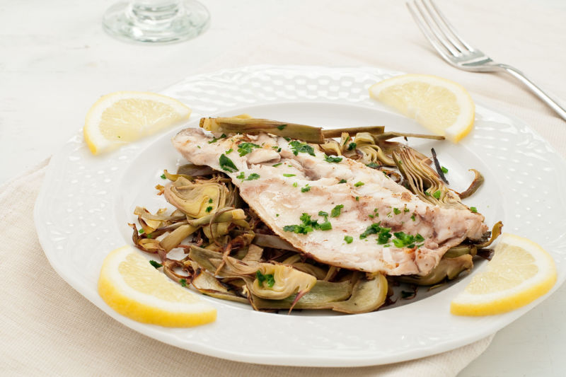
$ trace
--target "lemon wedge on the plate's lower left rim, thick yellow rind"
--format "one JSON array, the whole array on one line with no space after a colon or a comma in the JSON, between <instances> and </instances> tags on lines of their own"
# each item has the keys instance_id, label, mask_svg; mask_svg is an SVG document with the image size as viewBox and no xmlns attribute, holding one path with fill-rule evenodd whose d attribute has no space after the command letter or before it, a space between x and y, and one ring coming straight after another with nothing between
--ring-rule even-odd
<instances>
[{"instance_id":1,"label":"lemon wedge on the plate's lower left rim, thick yellow rind","mask_svg":"<svg viewBox=\"0 0 566 377\"><path fill-rule=\"evenodd\" d=\"M105 257L98 294L118 313L143 323L190 327L216 320L215 308L171 282L132 246Z\"/></svg>"}]
</instances>

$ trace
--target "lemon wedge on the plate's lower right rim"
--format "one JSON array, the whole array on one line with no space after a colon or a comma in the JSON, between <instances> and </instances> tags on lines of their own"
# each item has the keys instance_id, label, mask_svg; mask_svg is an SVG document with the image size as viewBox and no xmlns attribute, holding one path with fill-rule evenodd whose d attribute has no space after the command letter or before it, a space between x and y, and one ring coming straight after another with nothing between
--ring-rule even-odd
<instances>
[{"instance_id":1,"label":"lemon wedge on the plate's lower right rim","mask_svg":"<svg viewBox=\"0 0 566 377\"><path fill-rule=\"evenodd\" d=\"M476 274L451 303L456 315L512 311L543 296L556 282L553 258L531 240L503 233L487 271Z\"/></svg>"}]
</instances>

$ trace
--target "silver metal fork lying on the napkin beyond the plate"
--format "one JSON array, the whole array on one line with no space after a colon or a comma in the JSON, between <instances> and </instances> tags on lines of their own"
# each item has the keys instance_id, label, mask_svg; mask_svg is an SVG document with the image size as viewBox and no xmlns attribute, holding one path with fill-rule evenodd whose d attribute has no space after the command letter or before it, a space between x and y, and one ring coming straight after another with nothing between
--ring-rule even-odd
<instances>
[{"instance_id":1,"label":"silver metal fork lying on the napkin beyond the plate","mask_svg":"<svg viewBox=\"0 0 566 377\"><path fill-rule=\"evenodd\" d=\"M407 8L420 30L441 57L456 68L473 72L506 71L524 83L538 98L566 120L566 109L550 98L536 83L512 66L494 62L480 50L464 41L442 15L432 0L408 1Z\"/></svg>"}]
</instances>

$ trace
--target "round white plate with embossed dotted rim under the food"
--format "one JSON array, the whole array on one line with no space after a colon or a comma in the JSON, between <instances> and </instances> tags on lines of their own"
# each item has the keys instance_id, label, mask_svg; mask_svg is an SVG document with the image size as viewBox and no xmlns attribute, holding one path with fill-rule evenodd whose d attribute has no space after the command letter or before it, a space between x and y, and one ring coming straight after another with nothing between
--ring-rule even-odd
<instances>
[{"instance_id":1,"label":"round white plate with embossed dotted rim under the food","mask_svg":"<svg viewBox=\"0 0 566 377\"><path fill-rule=\"evenodd\" d=\"M415 122L369 99L371 84L395 74L376 68L252 66L193 76L162 93L193 109L183 127L195 126L201 115L248 112L325 127L384 124L388 129L422 132ZM277 315L205 297L218 309L218 319L210 325L171 329L129 320L98 296L98 272L110 250L131 243L127 222L134 221L134 207L163 207L153 187L163 182L159 178L163 168L174 169L182 161L169 141L176 132L105 156L91 156L82 134L76 134L53 156L35 205L37 233L52 267L112 318L149 337L202 354L260 364L386 364L479 340L543 300L503 315L457 317L449 313L449 303L468 283L466 277L420 301L362 315ZM434 146L457 190L470 182L468 168L480 170L485 185L468 203L485 214L487 224L502 220L504 231L543 245L556 261L554 290L558 288L566 278L562 194L566 163L548 143L523 122L478 105L475 129L458 146L448 141L411 140L410 144L427 153Z\"/></svg>"}]
</instances>

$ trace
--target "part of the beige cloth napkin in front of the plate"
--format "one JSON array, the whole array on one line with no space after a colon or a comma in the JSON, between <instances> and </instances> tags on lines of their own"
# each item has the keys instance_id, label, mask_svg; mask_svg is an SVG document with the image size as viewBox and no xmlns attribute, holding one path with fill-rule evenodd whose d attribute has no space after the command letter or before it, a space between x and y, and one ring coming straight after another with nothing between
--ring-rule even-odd
<instances>
[{"instance_id":1,"label":"part of the beige cloth napkin in front of the plate","mask_svg":"<svg viewBox=\"0 0 566 377\"><path fill-rule=\"evenodd\" d=\"M145 337L93 306L47 262L33 224L45 166L0 187L0 219L10 224L0 231L2 376L454 376L492 340L405 363L331 369L226 361Z\"/></svg>"}]
</instances>

